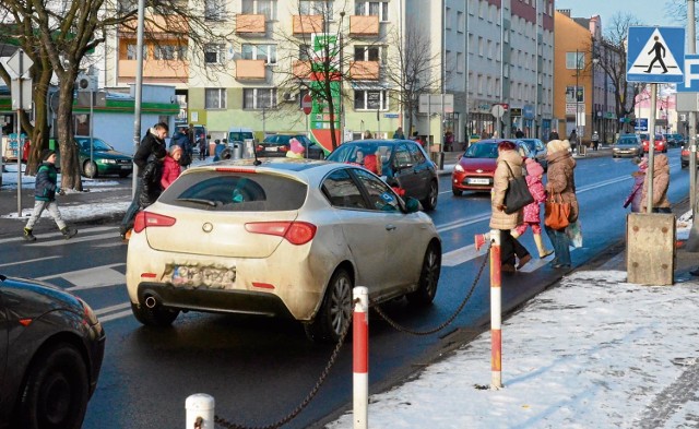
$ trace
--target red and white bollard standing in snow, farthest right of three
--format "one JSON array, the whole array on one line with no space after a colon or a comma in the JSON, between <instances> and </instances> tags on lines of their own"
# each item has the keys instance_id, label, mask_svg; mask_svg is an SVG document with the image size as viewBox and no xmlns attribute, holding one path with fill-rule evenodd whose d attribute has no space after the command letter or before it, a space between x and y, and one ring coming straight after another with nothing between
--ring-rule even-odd
<instances>
[{"instance_id":1,"label":"red and white bollard standing in snow, farthest right of three","mask_svg":"<svg viewBox=\"0 0 699 429\"><path fill-rule=\"evenodd\" d=\"M500 230L490 229L490 389L502 389Z\"/></svg>"}]
</instances>

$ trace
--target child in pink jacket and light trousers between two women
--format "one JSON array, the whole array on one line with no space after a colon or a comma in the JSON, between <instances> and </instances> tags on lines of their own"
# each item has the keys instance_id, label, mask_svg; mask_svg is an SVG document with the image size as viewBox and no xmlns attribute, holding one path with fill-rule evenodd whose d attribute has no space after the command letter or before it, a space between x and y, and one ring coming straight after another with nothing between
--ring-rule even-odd
<instances>
[{"instance_id":1,"label":"child in pink jacket and light trousers between two women","mask_svg":"<svg viewBox=\"0 0 699 429\"><path fill-rule=\"evenodd\" d=\"M511 234L512 237L519 238L526 233L526 228L532 228L538 258L544 259L554 252L544 247L544 239L542 238L541 203L546 201L546 190L542 182L544 168L532 158L526 158L524 165L526 168L526 187L532 196L534 196L534 202L524 206L524 222L519 224Z\"/></svg>"}]
</instances>

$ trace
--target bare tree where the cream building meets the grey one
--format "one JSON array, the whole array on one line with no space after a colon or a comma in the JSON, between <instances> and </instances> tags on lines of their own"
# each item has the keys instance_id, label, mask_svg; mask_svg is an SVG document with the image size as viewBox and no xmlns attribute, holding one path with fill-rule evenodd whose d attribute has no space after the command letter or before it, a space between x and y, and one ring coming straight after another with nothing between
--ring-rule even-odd
<instances>
[{"instance_id":1,"label":"bare tree where the cream building meets the grey one","mask_svg":"<svg viewBox=\"0 0 699 429\"><path fill-rule=\"evenodd\" d=\"M395 55L388 58L386 78L392 93L407 118L407 130L413 129L417 116L419 95L439 90L439 55L433 53L428 35L415 22L404 25L403 35L398 28L391 35L391 47Z\"/></svg>"}]
</instances>

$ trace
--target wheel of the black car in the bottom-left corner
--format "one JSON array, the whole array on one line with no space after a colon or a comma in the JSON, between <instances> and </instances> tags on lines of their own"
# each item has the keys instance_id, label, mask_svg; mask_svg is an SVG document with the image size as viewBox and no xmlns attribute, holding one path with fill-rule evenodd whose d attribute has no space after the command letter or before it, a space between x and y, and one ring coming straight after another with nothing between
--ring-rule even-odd
<instances>
[{"instance_id":1,"label":"wheel of the black car in the bottom-left corner","mask_svg":"<svg viewBox=\"0 0 699 429\"><path fill-rule=\"evenodd\" d=\"M36 354L20 396L17 428L80 428L90 400L87 365L75 346L59 343Z\"/></svg>"}]
</instances>

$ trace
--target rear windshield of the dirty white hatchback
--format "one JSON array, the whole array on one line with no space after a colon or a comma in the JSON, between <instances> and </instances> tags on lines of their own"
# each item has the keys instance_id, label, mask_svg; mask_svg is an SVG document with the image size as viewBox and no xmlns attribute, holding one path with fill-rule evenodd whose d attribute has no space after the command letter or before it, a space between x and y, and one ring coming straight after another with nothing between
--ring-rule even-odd
<instances>
[{"instance_id":1,"label":"rear windshield of the dirty white hatchback","mask_svg":"<svg viewBox=\"0 0 699 429\"><path fill-rule=\"evenodd\" d=\"M305 183L288 177L204 170L182 175L158 201L216 212L283 212L300 208L307 193Z\"/></svg>"}]
</instances>

